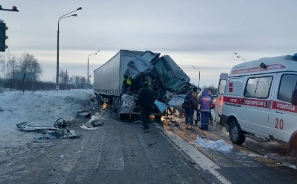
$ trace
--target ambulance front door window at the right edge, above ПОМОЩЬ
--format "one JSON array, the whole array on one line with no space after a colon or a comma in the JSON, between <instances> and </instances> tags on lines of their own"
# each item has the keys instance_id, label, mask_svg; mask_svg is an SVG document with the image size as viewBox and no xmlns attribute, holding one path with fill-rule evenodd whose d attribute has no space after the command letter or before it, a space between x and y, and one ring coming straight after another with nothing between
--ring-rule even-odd
<instances>
[{"instance_id":1,"label":"ambulance front door window at the right edge, above \u041f\u041e\u041c\u041e\u0429\u042c","mask_svg":"<svg viewBox=\"0 0 297 184\"><path fill-rule=\"evenodd\" d=\"M281 85L278 90L278 100L292 102L292 91L296 88L297 75L285 74L281 77Z\"/></svg>"}]
</instances>

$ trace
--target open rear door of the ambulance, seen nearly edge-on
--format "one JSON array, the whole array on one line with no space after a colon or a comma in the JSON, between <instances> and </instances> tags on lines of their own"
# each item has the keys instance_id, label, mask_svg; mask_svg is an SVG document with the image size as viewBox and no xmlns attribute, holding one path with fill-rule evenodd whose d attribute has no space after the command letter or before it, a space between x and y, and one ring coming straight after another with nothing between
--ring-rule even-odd
<instances>
[{"instance_id":1,"label":"open rear door of the ambulance, seen nearly edge-on","mask_svg":"<svg viewBox=\"0 0 297 184\"><path fill-rule=\"evenodd\" d=\"M217 97L216 97L216 107L214 109L215 113L219 116L222 115L222 108L223 108L223 98L224 98L224 91L226 87L228 79L228 73L221 73L219 79L219 85L217 87Z\"/></svg>"}]
</instances>

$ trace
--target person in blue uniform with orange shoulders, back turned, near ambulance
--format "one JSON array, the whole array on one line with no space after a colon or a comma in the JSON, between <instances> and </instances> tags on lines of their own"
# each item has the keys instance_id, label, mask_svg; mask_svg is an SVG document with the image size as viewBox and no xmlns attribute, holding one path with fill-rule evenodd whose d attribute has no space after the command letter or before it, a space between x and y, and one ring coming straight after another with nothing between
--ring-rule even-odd
<instances>
[{"instance_id":1,"label":"person in blue uniform with orange shoulders, back turned, near ambulance","mask_svg":"<svg viewBox=\"0 0 297 184\"><path fill-rule=\"evenodd\" d=\"M199 98L200 113L201 113L201 127L202 130L208 130L209 113L211 98L207 95L207 90L202 92L202 96Z\"/></svg>"}]
</instances>

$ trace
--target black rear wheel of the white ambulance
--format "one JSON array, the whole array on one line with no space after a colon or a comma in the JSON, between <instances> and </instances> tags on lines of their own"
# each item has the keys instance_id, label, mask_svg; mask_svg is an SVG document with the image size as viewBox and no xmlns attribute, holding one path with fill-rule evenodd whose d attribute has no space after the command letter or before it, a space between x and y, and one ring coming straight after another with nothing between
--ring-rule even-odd
<instances>
[{"instance_id":1,"label":"black rear wheel of the white ambulance","mask_svg":"<svg viewBox=\"0 0 297 184\"><path fill-rule=\"evenodd\" d=\"M239 124L236 121L232 121L229 126L229 137L232 143L241 145L246 140L244 132L241 130Z\"/></svg>"}]
</instances>

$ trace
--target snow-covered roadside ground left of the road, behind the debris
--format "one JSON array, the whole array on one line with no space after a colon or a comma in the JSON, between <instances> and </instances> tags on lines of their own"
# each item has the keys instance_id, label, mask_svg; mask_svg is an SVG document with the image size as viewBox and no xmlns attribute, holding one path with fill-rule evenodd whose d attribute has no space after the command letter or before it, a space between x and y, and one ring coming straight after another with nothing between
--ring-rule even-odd
<instances>
[{"instance_id":1,"label":"snow-covered roadside ground left of the road, behind the debris","mask_svg":"<svg viewBox=\"0 0 297 184\"><path fill-rule=\"evenodd\" d=\"M72 119L87 105L93 90L22 91L0 93L0 147L17 146L36 134L21 132L17 123L52 126L58 118Z\"/></svg>"}]
</instances>

